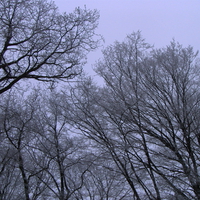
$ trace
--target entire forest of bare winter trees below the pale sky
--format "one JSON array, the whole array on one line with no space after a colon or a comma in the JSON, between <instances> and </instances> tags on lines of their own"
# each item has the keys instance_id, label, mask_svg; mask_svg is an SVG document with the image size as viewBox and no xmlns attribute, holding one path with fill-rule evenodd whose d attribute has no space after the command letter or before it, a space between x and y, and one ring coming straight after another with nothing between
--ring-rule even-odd
<instances>
[{"instance_id":1,"label":"entire forest of bare winter trees below the pale sky","mask_svg":"<svg viewBox=\"0 0 200 200\"><path fill-rule=\"evenodd\" d=\"M97 10L0 2L0 200L200 200L200 59L140 31L102 50Z\"/></svg>"}]
</instances>

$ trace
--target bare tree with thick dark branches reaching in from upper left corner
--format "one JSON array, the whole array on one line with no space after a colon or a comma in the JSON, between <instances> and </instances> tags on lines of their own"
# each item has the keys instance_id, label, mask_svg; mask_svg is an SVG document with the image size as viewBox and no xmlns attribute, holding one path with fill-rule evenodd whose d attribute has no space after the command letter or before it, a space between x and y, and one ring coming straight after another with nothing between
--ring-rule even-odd
<instances>
[{"instance_id":1,"label":"bare tree with thick dark branches reaching in from upper left corner","mask_svg":"<svg viewBox=\"0 0 200 200\"><path fill-rule=\"evenodd\" d=\"M73 78L98 47L96 10L60 14L47 0L2 0L0 10L0 93L26 78Z\"/></svg>"}]
</instances>

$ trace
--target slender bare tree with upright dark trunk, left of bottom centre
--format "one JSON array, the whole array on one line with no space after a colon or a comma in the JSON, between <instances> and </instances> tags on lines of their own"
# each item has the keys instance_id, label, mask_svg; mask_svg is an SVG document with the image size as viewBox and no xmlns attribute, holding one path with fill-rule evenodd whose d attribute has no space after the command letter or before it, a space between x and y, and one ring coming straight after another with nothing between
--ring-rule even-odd
<instances>
[{"instance_id":1,"label":"slender bare tree with upright dark trunk, left of bottom centre","mask_svg":"<svg viewBox=\"0 0 200 200\"><path fill-rule=\"evenodd\" d=\"M84 153L85 145L70 130L68 118L63 115L60 106L60 95L52 92L43 103L46 106L41 109L40 118L45 128L38 147L48 160L48 168L45 169L48 181L41 181L54 199L75 199L90 166Z\"/></svg>"}]
</instances>

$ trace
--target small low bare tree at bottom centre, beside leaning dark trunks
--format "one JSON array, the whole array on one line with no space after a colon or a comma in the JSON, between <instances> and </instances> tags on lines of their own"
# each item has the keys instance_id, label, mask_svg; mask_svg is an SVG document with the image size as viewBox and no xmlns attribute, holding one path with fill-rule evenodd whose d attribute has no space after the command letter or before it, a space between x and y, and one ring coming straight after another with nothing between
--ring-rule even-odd
<instances>
[{"instance_id":1,"label":"small low bare tree at bottom centre, beside leaning dark trunks","mask_svg":"<svg viewBox=\"0 0 200 200\"><path fill-rule=\"evenodd\" d=\"M82 196L85 195L83 199L131 199L132 192L129 185L105 149L103 149L104 153L100 152L99 148L94 148L93 152L95 152L96 159L85 174L81 190Z\"/></svg>"}]
</instances>

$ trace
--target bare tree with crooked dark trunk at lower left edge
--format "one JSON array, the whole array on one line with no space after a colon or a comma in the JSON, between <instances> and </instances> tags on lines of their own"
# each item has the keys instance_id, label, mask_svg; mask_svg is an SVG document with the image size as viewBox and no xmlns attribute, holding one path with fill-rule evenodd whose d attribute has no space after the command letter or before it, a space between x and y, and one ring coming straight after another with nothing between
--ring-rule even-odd
<instances>
[{"instance_id":1,"label":"bare tree with crooked dark trunk at lower left edge","mask_svg":"<svg viewBox=\"0 0 200 200\"><path fill-rule=\"evenodd\" d=\"M44 178L32 157L35 144L33 119L38 110L37 95L23 99L18 93L2 95L2 133L1 146L1 183L4 188L3 199L34 199L45 190L46 186L40 181ZM39 154L35 155L40 159ZM42 159L41 159L42 160ZM38 179L38 176L40 179ZM5 190L6 189L6 190Z\"/></svg>"}]
</instances>

